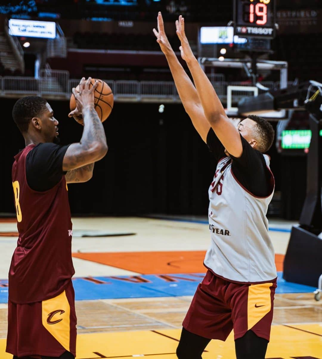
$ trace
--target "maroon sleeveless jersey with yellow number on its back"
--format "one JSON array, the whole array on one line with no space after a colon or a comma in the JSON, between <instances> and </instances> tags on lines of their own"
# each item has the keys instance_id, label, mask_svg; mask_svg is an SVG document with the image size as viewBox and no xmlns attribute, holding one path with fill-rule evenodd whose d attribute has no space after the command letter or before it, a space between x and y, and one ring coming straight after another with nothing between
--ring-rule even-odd
<instances>
[{"instance_id":1,"label":"maroon sleeveless jersey with yellow number on its back","mask_svg":"<svg viewBox=\"0 0 322 359\"><path fill-rule=\"evenodd\" d=\"M34 147L19 152L12 167L19 238L9 270L9 300L18 304L59 295L75 273L65 176L48 191L32 190L26 156Z\"/></svg>"}]
</instances>

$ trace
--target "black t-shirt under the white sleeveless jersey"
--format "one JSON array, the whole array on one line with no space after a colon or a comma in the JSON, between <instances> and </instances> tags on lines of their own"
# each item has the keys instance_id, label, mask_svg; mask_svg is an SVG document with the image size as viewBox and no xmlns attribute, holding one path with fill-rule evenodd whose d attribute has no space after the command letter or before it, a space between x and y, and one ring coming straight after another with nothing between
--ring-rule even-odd
<instances>
[{"instance_id":1,"label":"black t-shirt under the white sleeveless jersey","mask_svg":"<svg viewBox=\"0 0 322 359\"><path fill-rule=\"evenodd\" d=\"M246 188L248 192L256 197L267 197L273 191L274 180L270 170L267 168L263 154L250 146L250 144L240 135L243 145L241 157L232 159L231 171L238 182ZM215 132L210 129L207 135L207 145L216 159L216 163L226 157L225 148L219 141Z\"/></svg>"}]
</instances>

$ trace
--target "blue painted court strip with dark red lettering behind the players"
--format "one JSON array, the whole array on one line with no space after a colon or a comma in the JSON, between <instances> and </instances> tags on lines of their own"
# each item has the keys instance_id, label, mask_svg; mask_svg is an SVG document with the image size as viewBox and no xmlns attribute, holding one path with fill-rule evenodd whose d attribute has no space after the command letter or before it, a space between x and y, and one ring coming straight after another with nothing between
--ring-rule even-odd
<instances>
[{"instance_id":1,"label":"blue painted court strip with dark red lettering behind the players","mask_svg":"<svg viewBox=\"0 0 322 359\"><path fill-rule=\"evenodd\" d=\"M74 278L76 300L155 298L193 295L204 274ZM276 293L307 293L316 288L286 282L278 273ZM8 281L0 280L0 303L8 301Z\"/></svg>"}]
</instances>

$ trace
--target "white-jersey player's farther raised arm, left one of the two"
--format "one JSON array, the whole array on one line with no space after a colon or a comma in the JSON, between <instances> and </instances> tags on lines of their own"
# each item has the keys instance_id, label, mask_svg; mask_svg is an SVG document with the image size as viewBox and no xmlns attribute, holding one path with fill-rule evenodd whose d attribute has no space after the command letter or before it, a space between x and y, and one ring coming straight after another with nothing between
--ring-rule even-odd
<instances>
[{"instance_id":1,"label":"white-jersey player's farther raised arm, left one of the two","mask_svg":"<svg viewBox=\"0 0 322 359\"><path fill-rule=\"evenodd\" d=\"M153 33L157 38L157 43L160 45L161 51L165 54L181 102L191 118L193 126L206 142L210 124L204 116L197 90L172 50L164 31L161 12L158 13L157 22L158 30L153 29Z\"/></svg>"}]
</instances>

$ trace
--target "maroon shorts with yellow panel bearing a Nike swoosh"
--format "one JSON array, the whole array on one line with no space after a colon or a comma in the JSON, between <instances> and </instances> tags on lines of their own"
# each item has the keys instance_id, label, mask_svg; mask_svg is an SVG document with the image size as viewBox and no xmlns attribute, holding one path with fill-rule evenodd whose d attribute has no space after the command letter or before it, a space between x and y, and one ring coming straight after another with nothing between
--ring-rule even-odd
<instances>
[{"instance_id":1,"label":"maroon shorts with yellow panel bearing a Nike swoosh","mask_svg":"<svg viewBox=\"0 0 322 359\"><path fill-rule=\"evenodd\" d=\"M198 285L183 327L208 339L238 339L252 330L270 340L276 279L270 283L233 283L210 270Z\"/></svg>"}]
</instances>

